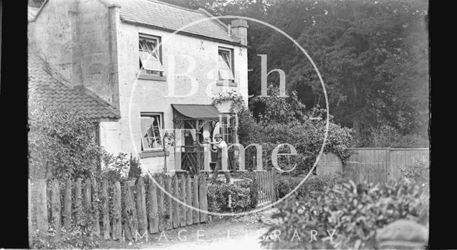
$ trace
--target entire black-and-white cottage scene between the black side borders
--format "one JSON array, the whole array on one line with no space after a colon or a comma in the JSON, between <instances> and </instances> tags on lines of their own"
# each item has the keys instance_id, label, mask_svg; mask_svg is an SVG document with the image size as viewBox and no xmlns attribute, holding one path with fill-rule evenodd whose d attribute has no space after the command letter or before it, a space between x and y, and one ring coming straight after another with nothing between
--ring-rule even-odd
<instances>
[{"instance_id":1,"label":"entire black-and-white cottage scene between the black side borders","mask_svg":"<svg viewBox=\"0 0 457 250\"><path fill-rule=\"evenodd\" d=\"M430 249L428 12L28 0L29 248Z\"/></svg>"}]
</instances>

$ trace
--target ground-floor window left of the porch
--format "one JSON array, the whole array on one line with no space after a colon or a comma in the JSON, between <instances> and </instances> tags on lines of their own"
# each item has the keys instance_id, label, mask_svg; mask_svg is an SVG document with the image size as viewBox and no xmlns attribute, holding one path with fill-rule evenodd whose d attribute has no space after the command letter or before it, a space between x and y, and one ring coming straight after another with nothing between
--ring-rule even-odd
<instances>
[{"instance_id":1,"label":"ground-floor window left of the porch","mask_svg":"<svg viewBox=\"0 0 457 250\"><path fill-rule=\"evenodd\" d=\"M141 150L162 149L162 114L141 113Z\"/></svg>"}]
</instances>

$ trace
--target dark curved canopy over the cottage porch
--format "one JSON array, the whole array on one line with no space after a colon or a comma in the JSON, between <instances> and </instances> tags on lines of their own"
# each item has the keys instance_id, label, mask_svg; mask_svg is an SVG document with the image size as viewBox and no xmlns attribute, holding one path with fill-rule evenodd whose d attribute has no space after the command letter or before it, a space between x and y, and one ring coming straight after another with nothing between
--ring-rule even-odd
<instances>
[{"instance_id":1,"label":"dark curved canopy over the cottage porch","mask_svg":"<svg viewBox=\"0 0 457 250\"><path fill-rule=\"evenodd\" d=\"M214 105L200 104L172 104L174 120L219 120L224 114L219 112Z\"/></svg>"}]
</instances>

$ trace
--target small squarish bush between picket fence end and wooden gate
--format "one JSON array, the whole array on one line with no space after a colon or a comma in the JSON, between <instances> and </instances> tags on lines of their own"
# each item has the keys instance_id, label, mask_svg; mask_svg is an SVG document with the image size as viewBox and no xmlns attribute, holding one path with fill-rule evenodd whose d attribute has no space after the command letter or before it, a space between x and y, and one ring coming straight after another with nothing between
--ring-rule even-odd
<instances>
[{"instance_id":1,"label":"small squarish bush between picket fence end and wooden gate","mask_svg":"<svg viewBox=\"0 0 457 250\"><path fill-rule=\"evenodd\" d=\"M241 212L257 205L256 184L250 181L227 184L219 180L209 180L206 196L211 212ZM251 188L252 187L252 188ZM231 204L229 204L231 195Z\"/></svg>"}]
</instances>

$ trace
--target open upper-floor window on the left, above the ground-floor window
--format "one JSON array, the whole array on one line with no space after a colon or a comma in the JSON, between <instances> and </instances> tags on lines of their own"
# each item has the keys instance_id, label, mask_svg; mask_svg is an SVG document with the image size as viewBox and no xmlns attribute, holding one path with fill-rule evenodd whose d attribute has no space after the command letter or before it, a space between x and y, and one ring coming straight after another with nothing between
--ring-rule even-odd
<instances>
[{"instance_id":1,"label":"open upper-floor window on the left, above the ground-floor window","mask_svg":"<svg viewBox=\"0 0 457 250\"><path fill-rule=\"evenodd\" d=\"M164 75L159 37L139 38L140 69L149 75Z\"/></svg>"}]
</instances>

